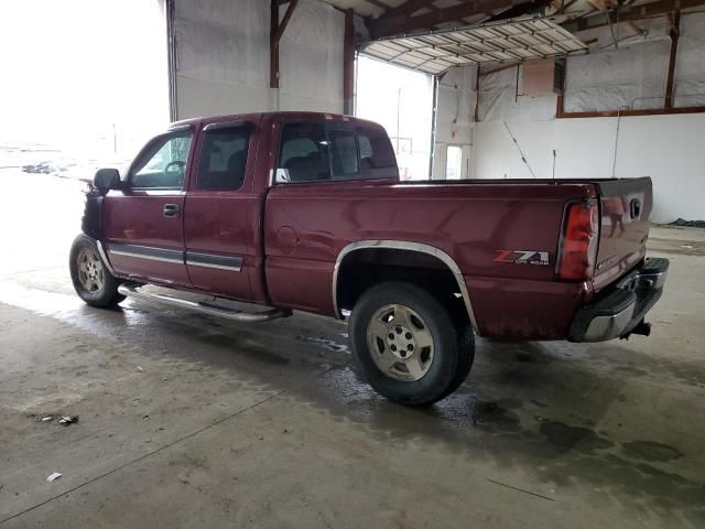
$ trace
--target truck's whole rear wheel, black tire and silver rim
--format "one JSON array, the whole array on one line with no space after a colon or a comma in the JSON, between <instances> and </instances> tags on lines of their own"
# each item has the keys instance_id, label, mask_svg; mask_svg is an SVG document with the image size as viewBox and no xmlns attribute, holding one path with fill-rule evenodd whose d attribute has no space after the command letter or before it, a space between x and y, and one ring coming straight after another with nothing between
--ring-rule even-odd
<instances>
[{"instance_id":1,"label":"truck's whole rear wheel, black tire and silver rim","mask_svg":"<svg viewBox=\"0 0 705 529\"><path fill-rule=\"evenodd\" d=\"M471 366L452 314L414 284L386 282L366 291L352 310L349 334L365 379L402 404L443 399Z\"/></svg>"}]
</instances>

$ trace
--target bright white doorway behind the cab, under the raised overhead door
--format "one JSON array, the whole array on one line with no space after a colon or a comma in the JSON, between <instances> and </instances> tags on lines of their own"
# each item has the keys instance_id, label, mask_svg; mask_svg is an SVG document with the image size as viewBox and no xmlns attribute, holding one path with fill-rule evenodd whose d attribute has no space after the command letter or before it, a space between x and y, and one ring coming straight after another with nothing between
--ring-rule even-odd
<instances>
[{"instance_id":1,"label":"bright white doorway behind the cab, under the raised overhead door","mask_svg":"<svg viewBox=\"0 0 705 529\"><path fill-rule=\"evenodd\" d=\"M429 180L433 76L360 55L356 114L387 129L402 180Z\"/></svg>"}]
</instances>

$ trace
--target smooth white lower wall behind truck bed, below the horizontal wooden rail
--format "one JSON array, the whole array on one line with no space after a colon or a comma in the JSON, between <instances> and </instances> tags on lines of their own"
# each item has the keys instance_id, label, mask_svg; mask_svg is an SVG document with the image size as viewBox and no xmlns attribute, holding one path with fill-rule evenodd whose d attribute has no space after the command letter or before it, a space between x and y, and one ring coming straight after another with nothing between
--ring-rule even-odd
<instances>
[{"instance_id":1,"label":"smooth white lower wall behind truck bed, below the horizontal wooden rail","mask_svg":"<svg viewBox=\"0 0 705 529\"><path fill-rule=\"evenodd\" d=\"M604 179L612 174L617 118L558 119L510 123L534 173L551 177ZM617 148L617 177L651 176L654 186L652 219L705 218L705 114L621 118ZM475 128L475 176L528 177L503 123Z\"/></svg>"}]
</instances>

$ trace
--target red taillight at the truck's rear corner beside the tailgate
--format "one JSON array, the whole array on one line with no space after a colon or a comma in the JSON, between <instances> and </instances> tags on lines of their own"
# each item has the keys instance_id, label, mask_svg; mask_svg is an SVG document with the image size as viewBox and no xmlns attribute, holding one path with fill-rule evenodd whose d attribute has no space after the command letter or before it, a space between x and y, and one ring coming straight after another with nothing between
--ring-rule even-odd
<instances>
[{"instance_id":1,"label":"red taillight at the truck's rear corner beside the tailgate","mask_svg":"<svg viewBox=\"0 0 705 529\"><path fill-rule=\"evenodd\" d=\"M595 272L599 212L596 201L571 204L565 212L557 274L565 280L590 279Z\"/></svg>"}]
</instances>

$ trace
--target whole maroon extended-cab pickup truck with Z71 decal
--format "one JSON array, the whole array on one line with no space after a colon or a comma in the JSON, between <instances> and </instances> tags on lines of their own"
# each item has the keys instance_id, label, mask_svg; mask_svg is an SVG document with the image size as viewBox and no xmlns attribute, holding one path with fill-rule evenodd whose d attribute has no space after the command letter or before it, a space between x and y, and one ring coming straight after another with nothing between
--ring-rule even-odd
<instances>
[{"instance_id":1,"label":"whole maroon extended-cab pickup truck with Z71 decal","mask_svg":"<svg viewBox=\"0 0 705 529\"><path fill-rule=\"evenodd\" d=\"M646 259L651 204L647 177L401 183L384 130L346 116L192 119L122 179L98 171L70 272L95 306L130 295L249 322L349 316L370 385L426 404L465 380L475 335L648 335L669 267Z\"/></svg>"}]
</instances>

